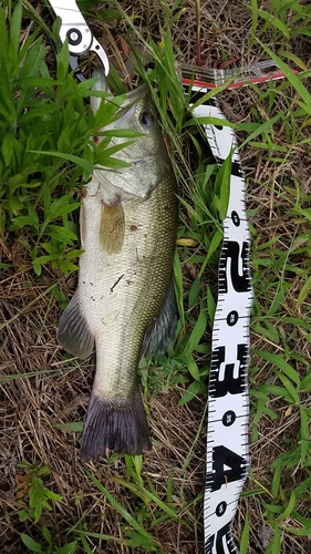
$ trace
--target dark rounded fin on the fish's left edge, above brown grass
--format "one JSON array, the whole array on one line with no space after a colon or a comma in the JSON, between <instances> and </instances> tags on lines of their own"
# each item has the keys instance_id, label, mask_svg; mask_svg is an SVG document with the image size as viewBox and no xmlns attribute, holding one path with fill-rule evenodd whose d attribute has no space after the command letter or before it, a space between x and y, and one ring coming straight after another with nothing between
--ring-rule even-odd
<instances>
[{"instance_id":1,"label":"dark rounded fin on the fish's left edge, above brown grass","mask_svg":"<svg viewBox=\"0 0 311 554\"><path fill-rule=\"evenodd\" d=\"M68 352L81 359L87 358L94 348L94 337L81 311L79 290L61 316L58 340Z\"/></svg>"}]
</instances>

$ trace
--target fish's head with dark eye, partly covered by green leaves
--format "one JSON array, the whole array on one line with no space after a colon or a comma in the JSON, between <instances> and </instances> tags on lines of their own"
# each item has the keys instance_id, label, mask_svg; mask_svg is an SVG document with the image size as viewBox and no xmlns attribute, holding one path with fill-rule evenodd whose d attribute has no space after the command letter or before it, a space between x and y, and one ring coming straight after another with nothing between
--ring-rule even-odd
<instances>
[{"instance_id":1,"label":"fish's head with dark eye, partly covered by green leaves","mask_svg":"<svg viewBox=\"0 0 311 554\"><path fill-rule=\"evenodd\" d=\"M100 82L105 85L103 78ZM91 104L93 110L96 109L95 103L91 101ZM131 166L114 173L103 170L95 170L94 173L103 186L105 183L113 186L122 198L135 196L138 201L144 201L167 173L172 172L158 115L146 84L125 95L115 120L102 131L123 129L142 134L133 138L113 136L111 140L110 146L125 144L114 157L129 163Z\"/></svg>"}]
</instances>

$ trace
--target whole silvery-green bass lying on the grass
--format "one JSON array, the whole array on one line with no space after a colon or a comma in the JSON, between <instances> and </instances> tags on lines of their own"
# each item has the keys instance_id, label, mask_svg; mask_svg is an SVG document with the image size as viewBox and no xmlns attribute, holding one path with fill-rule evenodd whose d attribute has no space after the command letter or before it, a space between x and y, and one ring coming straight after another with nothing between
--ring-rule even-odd
<instances>
[{"instance_id":1,"label":"whole silvery-green bass lying on the grass","mask_svg":"<svg viewBox=\"0 0 311 554\"><path fill-rule=\"evenodd\" d=\"M97 90L107 90L103 72L97 75ZM91 98L94 112L99 105ZM167 349L178 320L177 183L146 85L128 92L104 127L120 129L143 135L115 154L128 167L95 168L82 194L79 281L58 327L60 345L73 356L85 359L95 346L82 462L152 450L137 368L142 356ZM124 141L114 136L110 145Z\"/></svg>"}]
</instances>

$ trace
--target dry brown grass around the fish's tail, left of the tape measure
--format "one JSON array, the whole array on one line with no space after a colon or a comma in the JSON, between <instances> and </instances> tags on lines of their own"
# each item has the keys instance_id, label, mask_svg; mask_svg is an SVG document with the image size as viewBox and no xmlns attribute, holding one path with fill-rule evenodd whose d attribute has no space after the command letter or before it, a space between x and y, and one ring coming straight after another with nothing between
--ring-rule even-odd
<instances>
[{"instance_id":1,"label":"dry brown grass around the fish's tail, left of the tape measure","mask_svg":"<svg viewBox=\"0 0 311 554\"><path fill-rule=\"evenodd\" d=\"M89 530L122 538L123 522L87 479L85 468L79 460L75 433L60 431L54 427L55 423L83 420L93 382L94 359L83 363L70 359L62 361L62 352L55 342L60 316L58 302L51 295L39 298L46 285L55 283L52 276L48 276L46 283L38 287L29 286L33 281L33 275L27 271L3 277L0 288L1 322L6 319L11 322L2 329L0 351L2 552L24 552L19 538L19 532L24 532L24 524L19 523L17 515L20 507L19 482L23 475L23 471L17 465L18 461L48 465L52 472L46 486L64 496L52 513L42 515L41 524L51 527L59 535L83 515ZM65 285L63 287L68 288ZM22 375L29 372L33 377L22 378ZM204 402L197 401L195 406L186 404L177 409L177 401L178 394L169 392L151 402L149 417L156 448L153 453L145 455L144 473L149 476L159 496L165 495L170 474L174 475L177 491L180 490L180 483L184 483L183 499L178 494L174 495L174 504L183 506L185 500L189 502L203 488L204 437L196 445L187 469L184 469L184 463L185 453L197 433ZM114 476L125 476L122 458L113 465L94 464L93 470L96 469L105 486L116 497L122 497L124 506L133 510L137 499L114 481ZM200 506L197 510L200 511ZM193 524L186 507L182 516L191 526L196 548L199 548L200 530ZM200 519L199 513L195 513L195 516ZM35 537L33 526L27 527L31 529L29 534ZM193 537L178 523L162 525L158 538L164 542L167 552L199 552L193 550ZM100 542L95 552L129 553L131 550L120 544L107 545Z\"/></svg>"}]
</instances>

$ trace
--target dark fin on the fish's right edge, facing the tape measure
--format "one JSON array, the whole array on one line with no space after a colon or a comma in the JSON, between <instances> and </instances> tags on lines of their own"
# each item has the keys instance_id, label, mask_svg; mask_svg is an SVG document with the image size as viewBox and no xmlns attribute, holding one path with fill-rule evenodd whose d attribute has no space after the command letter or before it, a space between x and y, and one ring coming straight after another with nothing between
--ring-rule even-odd
<instances>
[{"instance_id":1,"label":"dark fin on the fish's right edge, facing the tape measure","mask_svg":"<svg viewBox=\"0 0 311 554\"><path fill-rule=\"evenodd\" d=\"M164 353L175 338L177 324L178 308L170 280L159 315L145 335L142 356L148 358L155 353Z\"/></svg>"}]
</instances>

